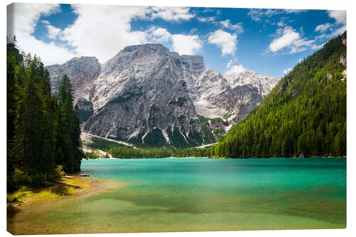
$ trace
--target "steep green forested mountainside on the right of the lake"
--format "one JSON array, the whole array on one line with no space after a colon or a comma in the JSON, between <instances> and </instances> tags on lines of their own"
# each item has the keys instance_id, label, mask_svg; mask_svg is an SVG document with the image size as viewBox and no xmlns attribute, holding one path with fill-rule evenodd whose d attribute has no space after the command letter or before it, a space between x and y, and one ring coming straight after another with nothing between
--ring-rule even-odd
<instances>
[{"instance_id":1,"label":"steep green forested mountainside on the right of the lake","mask_svg":"<svg viewBox=\"0 0 356 237\"><path fill-rule=\"evenodd\" d=\"M346 155L346 32L295 65L214 157Z\"/></svg>"}]
</instances>

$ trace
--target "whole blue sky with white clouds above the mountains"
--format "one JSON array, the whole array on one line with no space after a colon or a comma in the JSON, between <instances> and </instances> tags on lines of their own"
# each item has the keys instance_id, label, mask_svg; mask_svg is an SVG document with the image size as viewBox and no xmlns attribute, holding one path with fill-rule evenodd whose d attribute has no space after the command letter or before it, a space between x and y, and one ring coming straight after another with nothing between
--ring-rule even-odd
<instances>
[{"instance_id":1,"label":"whole blue sky with white clouds above the mountains","mask_svg":"<svg viewBox=\"0 0 356 237\"><path fill-rule=\"evenodd\" d=\"M45 65L78 56L105 63L125 46L162 43L222 74L282 77L346 30L346 11L11 4L7 22L7 35Z\"/></svg>"}]
</instances>

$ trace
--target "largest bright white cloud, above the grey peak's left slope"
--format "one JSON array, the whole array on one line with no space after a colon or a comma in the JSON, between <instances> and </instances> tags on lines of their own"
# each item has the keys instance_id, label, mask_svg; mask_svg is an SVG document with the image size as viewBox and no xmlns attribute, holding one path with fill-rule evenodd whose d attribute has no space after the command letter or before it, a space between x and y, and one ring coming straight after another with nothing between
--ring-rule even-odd
<instances>
[{"instance_id":1,"label":"largest bright white cloud, above the grey peak's left slope","mask_svg":"<svg viewBox=\"0 0 356 237\"><path fill-rule=\"evenodd\" d=\"M146 42L147 33L131 31L130 21L145 17L142 6L72 5L78 15L73 25L63 30L62 41L68 41L80 56L95 56L100 63L115 56L128 45Z\"/></svg>"}]
</instances>

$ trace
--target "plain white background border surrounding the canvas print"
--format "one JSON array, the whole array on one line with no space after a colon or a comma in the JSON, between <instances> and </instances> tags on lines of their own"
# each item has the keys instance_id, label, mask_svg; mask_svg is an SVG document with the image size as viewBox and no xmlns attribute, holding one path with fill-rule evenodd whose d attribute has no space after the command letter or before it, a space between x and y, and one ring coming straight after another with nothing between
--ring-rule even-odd
<instances>
[{"instance_id":1,"label":"plain white background border surrounding the canvas print","mask_svg":"<svg viewBox=\"0 0 356 237\"><path fill-rule=\"evenodd\" d=\"M1 1L1 77L0 77L0 112L1 112L1 178L0 178L0 226L1 236L11 236L6 232L6 5L13 1ZM353 93L355 87L355 28L356 28L356 4L347 0L179 0L179 1L162 1L162 0L47 0L47 1L28 1L20 0L19 2L28 3L61 3L61 4L108 4L108 5L137 5L137 6L203 6L203 7L234 7L234 8L273 8L273 9L328 9L328 10L347 10L347 228L330 229L330 230L298 230L298 231L220 231L220 232L188 232L188 233L114 233L114 234L96 234L94 236L355 236L355 111L356 111L356 93ZM56 235L56 236L93 236L91 235Z\"/></svg>"}]
</instances>

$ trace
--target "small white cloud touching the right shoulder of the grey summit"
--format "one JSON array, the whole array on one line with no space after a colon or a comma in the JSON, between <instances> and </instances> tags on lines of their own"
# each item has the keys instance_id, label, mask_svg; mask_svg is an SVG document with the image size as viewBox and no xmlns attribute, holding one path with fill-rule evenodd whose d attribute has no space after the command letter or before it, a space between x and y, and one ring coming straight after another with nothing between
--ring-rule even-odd
<instances>
[{"instance_id":1,"label":"small white cloud touching the right shoulder of the grey summit","mask_svg":"<svg viewBox=\"0 0 356 237\"><path fill-rule=\"evenodd\" d=\"M193 55L199 51L202 46L201 41L199 40L199 36L176 34L172 35L171 38L173 51L179 53L180 55Z\"/></svg>"}]
</instances>

